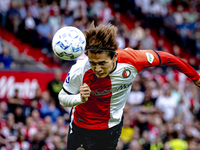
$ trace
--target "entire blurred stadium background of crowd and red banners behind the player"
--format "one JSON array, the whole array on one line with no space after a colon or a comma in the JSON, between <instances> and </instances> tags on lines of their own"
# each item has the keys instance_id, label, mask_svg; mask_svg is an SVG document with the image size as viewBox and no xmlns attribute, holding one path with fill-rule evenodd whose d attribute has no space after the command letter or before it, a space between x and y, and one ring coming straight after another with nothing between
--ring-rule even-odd
<instances>
[{"instance_id":1,"label":"entire blurred stadium background of crowd and red banners behind the player","mask_svg":"<svg viewBox=\"0 0 200 150\"><path fill-rule=\"evenodd\" d=\"M119 48L155 49L200 70L199 0L0 0L0 149L66 150L70 67L51 49L63 26L111 22ZM84 57L82 55L81 57ZM200 90L166 66L132 86L117 150L200 150Z\"/></svg>"}]
</instances>

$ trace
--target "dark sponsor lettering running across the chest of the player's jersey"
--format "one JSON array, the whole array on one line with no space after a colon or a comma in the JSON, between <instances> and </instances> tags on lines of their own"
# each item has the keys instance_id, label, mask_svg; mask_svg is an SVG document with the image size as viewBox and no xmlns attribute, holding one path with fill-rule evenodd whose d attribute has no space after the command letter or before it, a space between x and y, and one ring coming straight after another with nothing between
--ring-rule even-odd
<instances>
[{"instance_id":1,"label":"dark sponsor lettering running across the chest of the player's jersey","mask_svg":"<svg viewBox=\"0 0 200 150\"><path fill-rule=\"evenodd\" d=\"M113 92L117 92L117 91L126 89L126 88L128 88L129 86L131 86L131 85L132 85L132 83L122 84L122 85L120 85L119 87L112 88L112 89L110 89L110 90L92 91L91 94L92 94L92 95L107 95L107 94L110 94L111 92L113 93Z\"/></svg>"}]
</instances>

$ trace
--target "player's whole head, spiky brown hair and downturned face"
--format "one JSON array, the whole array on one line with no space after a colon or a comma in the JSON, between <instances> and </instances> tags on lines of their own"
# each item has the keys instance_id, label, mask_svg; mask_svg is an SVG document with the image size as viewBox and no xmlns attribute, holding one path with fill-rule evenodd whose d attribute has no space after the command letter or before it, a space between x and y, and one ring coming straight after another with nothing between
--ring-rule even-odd
<instances>
[{"instance_id":1,"label":"player's whole head, spiky brown hair and downturned face","mask_svg":"<svg viewBox=\"0 0 200 150\"><path fill-rule=\"evenodd\" d=\"M117 28L110 23L95 28L91 24L89 30L84 31L86 37L86 55L90 66L98 78L105 78L116 66L118 48L116 41Z\"/></svg>"}]
</instances>

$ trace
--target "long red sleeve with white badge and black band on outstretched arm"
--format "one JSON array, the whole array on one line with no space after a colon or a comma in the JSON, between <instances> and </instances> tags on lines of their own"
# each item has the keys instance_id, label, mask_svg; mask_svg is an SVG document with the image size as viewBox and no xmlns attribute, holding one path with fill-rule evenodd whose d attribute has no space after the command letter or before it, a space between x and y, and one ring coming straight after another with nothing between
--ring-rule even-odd
<instances>
[{"instance_id":1,"label":"long red sleeve with white badge and black band on outstretched arm","mask_svg":"<svg viewBox=\"0 0 200 150\"><path fill-rule=\"evenodd\" d=\"M156 50L133 50L127 48L125 50L118 50L118 53L121 55L119 58L120 61L133 65L138 73L147 67L167 65L184 73L193 82L200 79L200 75L194 68L182 59L167 52Z\"/></svg>"}]
</instances>

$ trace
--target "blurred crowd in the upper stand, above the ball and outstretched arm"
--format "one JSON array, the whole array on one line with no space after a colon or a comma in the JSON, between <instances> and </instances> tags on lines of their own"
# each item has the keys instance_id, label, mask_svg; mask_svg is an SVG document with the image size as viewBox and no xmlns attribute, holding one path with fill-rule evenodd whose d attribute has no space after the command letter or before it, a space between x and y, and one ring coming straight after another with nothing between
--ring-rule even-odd
<instances>
[{"instance_id":1,"label":"blurred crowd in the upper stand, above the ball and outstretched arm","mask_svg":"<svg viewBox=\"0 0 200 150\"><path fill-rule=\"evenodd\" d=\"M168 51L199 69L199 13L198 0L0 1L1 27L14 32L16 37L32 47L40 48L61 66L65 63L72 65L75 61L62 61L53 54L51 41L54 33L66 25L88 29L94 21L95 25L111 22L117 26L120 48L129 46ZM123 19L122 22L122 14L129 19ZM131 26L128 25L130 22ZM152 31L156 31L158 38L152 36ZM165 46L166 39L172 48ZM1 49L0 53L3 53Z\"/></svg>"}]
</instances>

